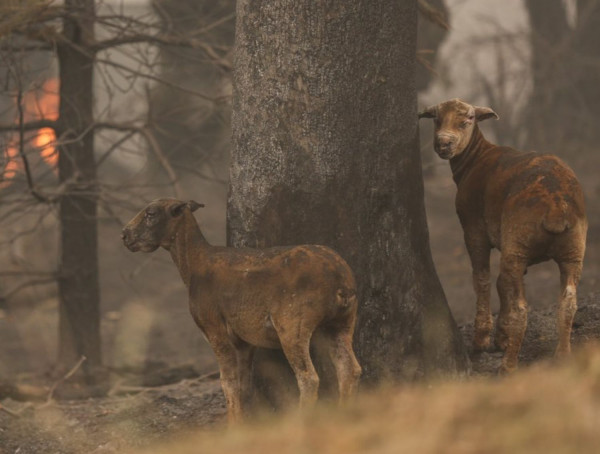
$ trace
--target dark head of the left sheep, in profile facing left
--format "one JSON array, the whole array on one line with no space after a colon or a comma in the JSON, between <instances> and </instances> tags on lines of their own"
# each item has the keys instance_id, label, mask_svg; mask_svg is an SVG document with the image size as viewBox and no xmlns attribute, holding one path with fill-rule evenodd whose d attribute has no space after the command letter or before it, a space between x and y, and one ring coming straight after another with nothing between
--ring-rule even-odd
<instances>
[{"instance_id":1,"label":"dark head of the left sheep, in profile facing left","mask_svg":"<svg viewBox=\"0 0 600 454\"><path fill-rule=\"evenodd\" d=\"M160 246L168 249L186 210L196 211L204 205L190 200L158 199L127 223L121 233L131 252L154 252Z\"/></svg>"}]
</instances>

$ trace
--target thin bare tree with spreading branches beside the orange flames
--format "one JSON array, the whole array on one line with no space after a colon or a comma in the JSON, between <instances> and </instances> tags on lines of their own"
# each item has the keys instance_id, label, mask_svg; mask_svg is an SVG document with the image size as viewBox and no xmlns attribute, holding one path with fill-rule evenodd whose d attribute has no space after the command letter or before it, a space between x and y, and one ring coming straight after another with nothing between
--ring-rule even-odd
<instances>
[{"instance_id":1,"label":"thin bare tree with spreading branches beside the orange flames","mask_svg":"<svg viewBox=\"0 0 600 454\"><path fill-rule=\"evenodd\" d=\"M160 162L168 176L168 184L174 185L175 193L178 191L177 172L153 134L152 117L144 118L137 113L139 109L133 116L128 109L129 117L115 115L110 102L118 98L119 92L127 94L134 87L139 88L140 81L162 84L185 92L187 96L217 102L201 90L161 77L162 66L156 47L195 49L203 55L206 64L221 66L228 52L225 48L215 49L205 41L203 33L207 31L184 34L152 14L130 17L110 5L101 4L100 12L96 6L94 0L65 0L59 6L49 1L10 3L4 11L7 20L0 23L0 57L5 67L5 86L9 90L8 98L14 100L14 105L6 108L2 116L6 123L0 125L7 144L3 202L5 206L14 207L9 209L13 216L24 207L48 207L42 210L44 213L57 208L60 225L58 269L42 275L46 281L58 281L58 361L64 368L85 356L87 361L82 369L90 379L94 377L93 371L102 364L99 209L104 216L114 216L115 205L127 203L124 191L131 188L122 181L102 181L98 169L132 137L141 137ZM215 22L226 20L217 18ZM28 60L32 52L37 56L49 56L45 61L50 63L43 71L39 70L39 74L30 64L33 60ZM46 116L43 109L38 108L34 109L38 115L32 117L27 113L24 100L29 93L43 90L45 85L40 79L52 77L54 65L59 86L55 93L59 99L57 112ZM98 86L102 86L103 97L109 100L103 106L99 106ZM33 137L31 134L40 134L40 128L53 131L57 181L48 177L48 165L54 166L56 159L48 159L46 167L40 167L36 164L40 161L39 149L31 150L28 145ZM110 143L101 155L95 150L98 141ZM24 175L24 193L18 184L20 172ZM10 190L6 189L8 183L14 183Z\"/></svg>"}]
</instances>

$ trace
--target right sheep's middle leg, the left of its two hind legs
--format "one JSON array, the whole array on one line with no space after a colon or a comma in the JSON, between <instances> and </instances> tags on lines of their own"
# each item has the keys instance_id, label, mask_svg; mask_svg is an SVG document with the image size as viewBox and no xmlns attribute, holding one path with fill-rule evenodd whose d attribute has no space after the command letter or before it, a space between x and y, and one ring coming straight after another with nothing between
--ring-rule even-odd
<instances>
[{"instance_id":1,"label":"right sheep's middle leg, the left of its two hind legs","mask_svg":"<svg viewBox=\"0 0 600 454\"><path fill-rule=\"evenodd\" d=\"M527 301L523 275L527 262L516 255L502 254L497 287L501 305L506 308L504 329L506 350L502 358L501 372L512 372L517 368L521 343L527 328Z\"/></svg>"}]
</instances>

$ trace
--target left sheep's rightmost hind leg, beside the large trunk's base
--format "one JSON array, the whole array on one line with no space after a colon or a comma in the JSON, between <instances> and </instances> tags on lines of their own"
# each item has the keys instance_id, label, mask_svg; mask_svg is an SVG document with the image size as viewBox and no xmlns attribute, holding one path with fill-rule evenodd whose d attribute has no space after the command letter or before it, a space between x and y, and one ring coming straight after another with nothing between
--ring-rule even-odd
<instances>
[{"instance_id":1,"label":"left sheep's rightmost hind leg, beside the large trunk's base","mask_svg":"<svg viewBox=\"0 0 600 454\"><path fill-rule=\"evenodd\" d=\"M343 332L329 339L329 356L335 367L341 403L356 394L362 372L352 349L351 332Z\"/></svg>"}]
</instances>

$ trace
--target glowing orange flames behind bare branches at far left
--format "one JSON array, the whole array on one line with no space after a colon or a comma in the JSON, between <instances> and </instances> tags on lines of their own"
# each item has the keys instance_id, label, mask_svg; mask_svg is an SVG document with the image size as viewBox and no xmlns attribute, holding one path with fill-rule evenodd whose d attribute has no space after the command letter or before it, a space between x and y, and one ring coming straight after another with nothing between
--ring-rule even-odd
<instances>
[{"instance_id":1,"label":"glowing orange flames behind bare branches at far left","mask_svg":"<svg viewBox=\"0 0 600 454\"><path fill-rule=\"evenodd\" d=\"M56 120L58 118L58 79L48 79L42 87L27 92L23 96L24 121ZM16 100L15 100L16 102ZM18 121L16 122L18 124ZM41 128L29 139L39 152L40 157L56 171L58 153L55 147L56 134L52 128ZM0 188L10 186L19 172L23 171L23 163L19 156L18 139L14 136L4 150L4 170L0 180Z\"/></svg>"}]
</instances>

